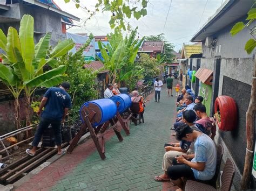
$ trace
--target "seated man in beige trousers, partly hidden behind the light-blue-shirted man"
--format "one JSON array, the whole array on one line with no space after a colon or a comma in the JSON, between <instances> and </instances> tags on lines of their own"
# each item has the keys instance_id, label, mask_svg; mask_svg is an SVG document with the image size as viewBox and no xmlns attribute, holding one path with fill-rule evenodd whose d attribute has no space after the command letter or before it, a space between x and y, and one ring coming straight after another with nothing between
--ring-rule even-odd
<instances>
[{"instance_id":1,"label":"seated man in beige trousers, partly hidden behind the light-blue-shirted man","mask_svg":"<svg viewBox=\"0 0 256 191\"><path fill-rule=\"evenodd\" d=\"M193 110L185 111L183 114L183 122L184 124L189 125L193 130L200 131L196 125L194 125L194 121L196 120L196 113ZM183 124L183 125L184 125ZM180 143L170 143L174 146L166 146L165 154L163 157L163 166L162 169L164 174L159 176L155 176L154 180L156 181L170 181L170 178L167 174L167 169L172 166L172 160L177 155L183 154L194 154L194 143L182 141ZM193 157L193 155L191 155Z\"/></svg>"}]
</instances>

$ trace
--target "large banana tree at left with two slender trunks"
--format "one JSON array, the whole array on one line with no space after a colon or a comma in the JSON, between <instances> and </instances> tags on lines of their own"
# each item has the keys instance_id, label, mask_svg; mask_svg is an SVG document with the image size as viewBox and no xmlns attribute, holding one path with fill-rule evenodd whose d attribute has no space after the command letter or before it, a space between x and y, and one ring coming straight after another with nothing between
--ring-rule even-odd
<instances>
[{"instance_id":1,"label":"large banana tree at left with two slender trunks","mask_svg":"<svg viewBox=\"0 0 256 191\"><path fill-rule=\"evenodd\" d=\"M51 34L41 38L35 46L33 42L33 17L24 15L19 27L19 34L14 27L9 27L7 37L0 29L0 48L4 53L0 55L0 80L2 80L15 97L16 128L21 126L19 112L19 95L24 90L26 101L26 125L30 124L31 95L37 87L51 87L60 83L66 67L60 65L55 68L55 58L66 54L72 47L71 39L61 41L49 52ZM44 72L43 67L48 64L53 69Z\"/></svg>"}]
</instances>

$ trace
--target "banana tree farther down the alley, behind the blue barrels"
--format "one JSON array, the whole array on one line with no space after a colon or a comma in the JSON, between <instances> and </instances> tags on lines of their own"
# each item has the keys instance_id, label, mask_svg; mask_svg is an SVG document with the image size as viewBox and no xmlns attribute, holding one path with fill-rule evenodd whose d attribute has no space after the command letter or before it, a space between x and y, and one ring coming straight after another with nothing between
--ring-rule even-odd
<instances>
[{"instance_id":1,"label":"banana tree farther down the alley, behind the blue barrels","mask_svg":"<svg viewBox=\"0 0 256 191\"><path fill-rule=\"evenodd\" d=\"M114 34L108 36L110 45L103 45L98 41L104 60L99 59L104 63L105 68L110 70L110 81L112 83L126 83L132 77L139 76L142 73L142 69L134 65L139 47L144 41L144 37L141 40L135 40L137 30L138 27L131 31L129 37L126 36L124 39L120 31L116 30ZM109 54L107 54L106 49Z\"/></svg>"}]
</instances>

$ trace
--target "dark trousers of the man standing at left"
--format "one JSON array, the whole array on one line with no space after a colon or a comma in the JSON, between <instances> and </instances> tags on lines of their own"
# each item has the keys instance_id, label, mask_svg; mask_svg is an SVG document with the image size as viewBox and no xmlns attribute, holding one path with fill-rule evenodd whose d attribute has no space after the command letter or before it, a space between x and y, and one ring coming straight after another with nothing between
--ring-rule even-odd
<instances>
[{"instance_id":1,"label":"dark trousers of the man standing at left","mask_svg":"<svg viewBox=\"0 0 256 191\"><path fill-rule=\"evenodd\" d=\"M62 145L62 133L61 133L61 122L62 121L56 121L56 120L52 120L52 119L47 119L47 118L43 118L41 117L40 123L38 125L38 128L36 130L35 133L35 138L32 142L32 146L37 146L43 136L44 130L46 128L48 128L48 126L51 124L52 126L52 130L54 132L55 135L55 143L57 146Z\"/></svg>"}]
</instances>

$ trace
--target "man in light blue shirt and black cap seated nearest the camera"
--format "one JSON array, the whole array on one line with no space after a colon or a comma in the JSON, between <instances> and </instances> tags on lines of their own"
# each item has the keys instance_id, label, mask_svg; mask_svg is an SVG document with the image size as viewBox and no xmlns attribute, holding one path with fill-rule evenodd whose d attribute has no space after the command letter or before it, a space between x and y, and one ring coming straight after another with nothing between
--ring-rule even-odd
<instances>
[{"instance_id":1,"label":"man in light blue shirt and black cap seated nearest the camera","mask_svg":"<svg viewBox=\"0 0 256 191\"><path fill-rule=\"evenodd\" d=\"M217 153L213 140L195 131L190 126L182 125L177 128L177 140L186 140L194 143L194 158L192 156L181 155L176 157L179 165L173 165L167 169L167 174L180 190L184 189L183 179L211 180L215 173Z\"/></svg>"}]
</instances>

